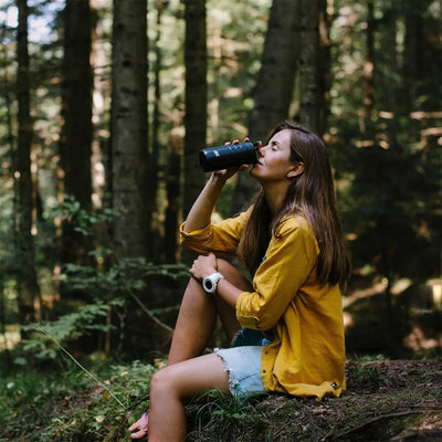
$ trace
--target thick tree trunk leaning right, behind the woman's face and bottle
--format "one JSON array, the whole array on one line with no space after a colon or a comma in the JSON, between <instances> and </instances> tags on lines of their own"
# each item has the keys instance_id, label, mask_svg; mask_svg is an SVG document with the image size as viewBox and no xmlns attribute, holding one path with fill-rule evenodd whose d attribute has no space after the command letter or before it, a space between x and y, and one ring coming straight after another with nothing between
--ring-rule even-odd
<instances>
[{"instance_id":1,"label":"thick tree trunk leaning right, behind the woman's face and bottle","mask_svg":"<svg viewBox=\"0 0 442 442\"><path fill-rule=\"evenodd\" d=\"M249 120L252 141L264 141L269 131L288 117L299 56L299 1L274 0ZM257 186L248 173L238 176L233 211L250 202Z\"/></svg>"}]
</instances>

